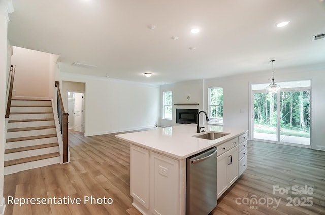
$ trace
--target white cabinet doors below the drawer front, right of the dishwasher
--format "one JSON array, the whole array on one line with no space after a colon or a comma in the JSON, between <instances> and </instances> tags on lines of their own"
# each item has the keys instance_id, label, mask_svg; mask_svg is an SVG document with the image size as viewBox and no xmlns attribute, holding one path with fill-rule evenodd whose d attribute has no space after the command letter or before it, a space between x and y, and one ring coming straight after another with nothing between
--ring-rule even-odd
<instances>
[{"instance_id":1,"label":"white cabinet doors below the drawer front, right of the dishwasher","mask_svg":"<svg viewBox=\"0 0 325 215\"><path fill-rule=\"evenodd\" d=\"M238 178L238 146L217 158L217 198Z\"/></svg>"}]
</instances>

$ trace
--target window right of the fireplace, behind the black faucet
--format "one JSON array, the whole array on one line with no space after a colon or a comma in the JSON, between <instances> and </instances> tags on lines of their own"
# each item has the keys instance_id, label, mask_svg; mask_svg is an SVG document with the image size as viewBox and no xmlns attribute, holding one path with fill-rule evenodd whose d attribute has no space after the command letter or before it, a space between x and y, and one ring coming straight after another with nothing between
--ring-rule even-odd
<instances>
[{"instance_id":1,"label":"window right of the fireplace, behind the black faucet","mask_svg":"<svg viewBox=\"0 0 325 215\"><path fill-rule=\"evenodd\" d=\"M209 123L223 124L223 88L208 89Z\"/></svg>"}]
</instances>

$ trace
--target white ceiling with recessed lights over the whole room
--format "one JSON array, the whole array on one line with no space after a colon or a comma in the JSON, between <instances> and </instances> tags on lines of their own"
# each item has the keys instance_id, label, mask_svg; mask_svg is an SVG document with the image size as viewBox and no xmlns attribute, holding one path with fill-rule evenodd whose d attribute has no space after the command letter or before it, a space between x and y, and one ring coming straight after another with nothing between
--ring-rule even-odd
<instances>
[{"instance_id":1,"label":"white ceiling with recessed lights over the whole room","mask_svg":"<svg viewBox=\"0 0 325 215\"><path fill-rule=\"evenodd\" d=\"M63 72L160 85L256 71L271 75L273 59L275 76L281 68L325 62L325 39L312 41L325 33L322 0L12 3L11 45L59 55ZM289 25L275 26L285 20ZM198 34L190 33L194 26L201 29ZM98 67L74 67L74 62Z\"/></svg>"}]
</instances>

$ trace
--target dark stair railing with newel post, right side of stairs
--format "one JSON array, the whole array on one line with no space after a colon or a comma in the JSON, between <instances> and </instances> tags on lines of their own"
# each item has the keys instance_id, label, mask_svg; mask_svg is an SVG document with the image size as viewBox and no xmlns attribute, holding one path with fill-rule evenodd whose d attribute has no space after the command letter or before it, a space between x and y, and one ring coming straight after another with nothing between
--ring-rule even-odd
<instances>
[{"instance_id":1,"label":"dark stair railing with newel post, right side of stairs","mask_svg":"<svg viewBox=\"0 0 325 215\"><path fill-rule=\"evenodd\" d=\"M68 116L69 114L64 111L63 100L60 92L60 82L55 81L57 88L57 115L59 118L62 140L63 140L63 163L68 162Z\"/></svg>"}]
</instances>

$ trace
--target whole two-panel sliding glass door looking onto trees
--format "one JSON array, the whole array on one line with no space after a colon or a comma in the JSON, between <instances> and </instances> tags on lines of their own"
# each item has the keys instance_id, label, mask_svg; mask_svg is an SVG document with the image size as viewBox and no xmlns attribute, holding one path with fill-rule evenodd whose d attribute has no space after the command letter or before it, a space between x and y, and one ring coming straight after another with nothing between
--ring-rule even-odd
<instances>
[{"instance_id":1,"label":"whole two-panel sliding glass door looking onto trees","mask_svg":"<svg viewBox=\"0 0 325 215\"><path fill-rule=\"evenodd\" d=\"M310 145L310 81L305 87L281 84L291 88L277 94L258 89L262 84L252 88L253 139Z\"/></svg>"}]
</instances>

